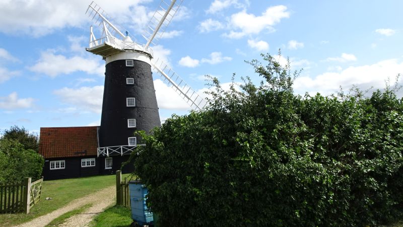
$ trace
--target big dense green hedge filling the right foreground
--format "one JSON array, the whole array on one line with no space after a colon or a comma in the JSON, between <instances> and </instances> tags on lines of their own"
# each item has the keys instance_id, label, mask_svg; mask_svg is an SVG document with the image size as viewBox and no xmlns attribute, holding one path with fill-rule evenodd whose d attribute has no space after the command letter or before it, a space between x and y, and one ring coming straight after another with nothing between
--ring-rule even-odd
<instances>
[{"instance_id":1,"label":"big dense green hedge filling the right foreground","mask_svg":"<svg viewBox=\"0 0 403 227\"><path fill-rule=\"evenodd\" d=\"M135 174L162 226L359 226L403 210L403 104L387 87L295 95L289 65L141 135Z\"/></svg>"}]
</instances>

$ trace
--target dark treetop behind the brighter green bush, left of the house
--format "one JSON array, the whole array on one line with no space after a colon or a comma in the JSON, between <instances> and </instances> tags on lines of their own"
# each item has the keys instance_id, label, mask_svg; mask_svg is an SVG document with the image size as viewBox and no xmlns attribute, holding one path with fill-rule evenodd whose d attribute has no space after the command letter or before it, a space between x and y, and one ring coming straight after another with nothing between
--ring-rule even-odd
<instances>
[{"instance_id":1,"label":"dark treetop behind the brighter green bush, left of the house","mask_svg":"<svg viewBox=\"0 0 403 227\"><path fill-rule=\"evenodd\" d=\"M3 133L2 139L12 139L24 145L25 149L32 149L38 152L39 138L35 133L30 133L24 127L12 126L6 129Z\"/></svg>"}]
</instances>

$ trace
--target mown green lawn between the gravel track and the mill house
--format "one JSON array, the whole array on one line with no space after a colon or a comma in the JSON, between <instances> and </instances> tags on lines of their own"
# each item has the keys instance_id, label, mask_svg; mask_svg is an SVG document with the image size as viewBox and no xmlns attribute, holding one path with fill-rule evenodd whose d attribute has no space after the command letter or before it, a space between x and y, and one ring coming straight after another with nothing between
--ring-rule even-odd
<instances>
[{"instance_id":1,"label":"mown green lawn between the gravel track and the mill house","mask_svg":"<svg viewBox=\"0 0 403 227\"><path fill-rule=\"evenodd\" d=\"M115 175L44 181L41 200L31 208L31 212L29 214L0 214L0 226L11 226L27 222L56 210L74 199L115 184ZM52 200L45 200L46 197L51 197Z\"/></svg>"}]
</instances>

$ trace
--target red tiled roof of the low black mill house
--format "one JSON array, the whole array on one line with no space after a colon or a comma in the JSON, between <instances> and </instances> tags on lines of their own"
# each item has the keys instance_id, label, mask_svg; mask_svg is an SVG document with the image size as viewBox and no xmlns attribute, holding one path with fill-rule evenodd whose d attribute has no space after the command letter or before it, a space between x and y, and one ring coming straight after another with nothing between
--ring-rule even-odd
<instances>
[{"instance_id":1,"label":"red tiled roof of the low black mill house","mask_svg":"<svg viewBox=\"0 0 403 227\"><path fill-rule=\"evenodd\" d=\"M44 158L97 155L98 126L41 128L39 153Z\"/></svg>"}]
</instances>

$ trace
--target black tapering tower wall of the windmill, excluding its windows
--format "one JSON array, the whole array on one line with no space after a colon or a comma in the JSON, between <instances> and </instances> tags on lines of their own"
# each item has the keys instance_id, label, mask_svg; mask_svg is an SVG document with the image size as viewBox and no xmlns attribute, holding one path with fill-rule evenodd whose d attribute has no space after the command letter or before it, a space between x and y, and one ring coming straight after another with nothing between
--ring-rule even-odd
<instances>
[{"instance_id":1,"label":"black tapering tower wall of the windmill, excluding its windows","mask_svg":"<svg viewBox=\"0 0 403 227\"><path fill-rule=\"evenodd\" d=\"M100 147L128 145L127 138L133 137L135 130L149 132L161 126L151 66L133 62L133 67L127 67L126 60L106 65ZM126 84L126 78L133 78L134 84ZM136 98L136 106L126 106L128 97ZM136 128L128 128L127 119L136 119Z\"/></svg>"}]
</instances>

